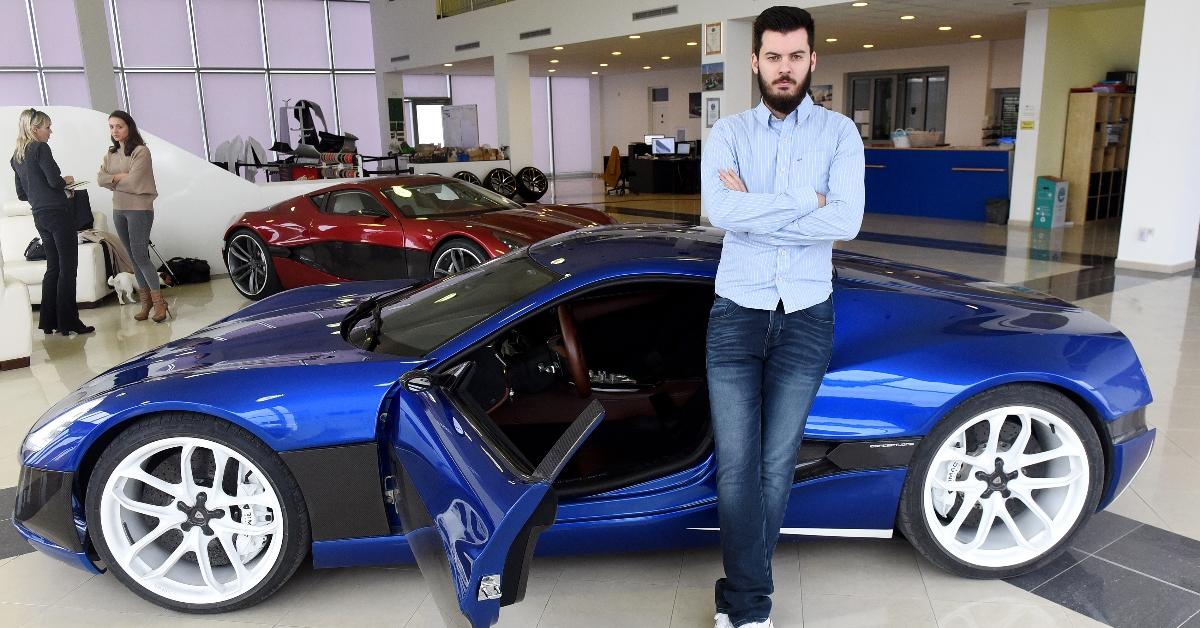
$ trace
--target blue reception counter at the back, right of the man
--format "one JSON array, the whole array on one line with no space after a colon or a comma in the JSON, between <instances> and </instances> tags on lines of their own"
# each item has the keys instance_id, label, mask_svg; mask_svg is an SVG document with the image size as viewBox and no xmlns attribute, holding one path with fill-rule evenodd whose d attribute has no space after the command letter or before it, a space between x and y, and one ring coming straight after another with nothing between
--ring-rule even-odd
<instances>
[{"instance_id":1,"label":"blue reception counter at the back, right of the man","mask_svg":"<svg viewBox=\"0 0 1200 628\"><path fill-rule=\"evenodd\" d=\"M991 148L868 148L866 211L985 220L1008 198L1013 151Z\"/></svg>"}]
</instances>

